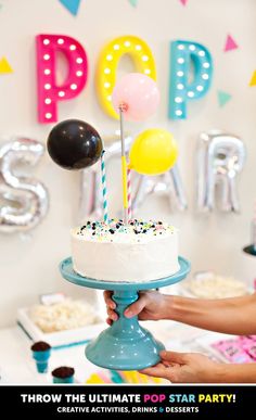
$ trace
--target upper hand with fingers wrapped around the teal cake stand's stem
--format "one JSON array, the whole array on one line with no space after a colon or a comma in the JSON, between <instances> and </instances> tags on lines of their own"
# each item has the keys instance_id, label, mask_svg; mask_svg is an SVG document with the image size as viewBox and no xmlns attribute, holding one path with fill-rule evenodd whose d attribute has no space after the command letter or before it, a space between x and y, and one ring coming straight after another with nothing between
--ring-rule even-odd
<instances>
[{"instance_id":1,"label":"upper hand with fingers wrapped around the teal cake stand's stem","mask_svg":"<svg viewBox=\"0 0 256 420\"><path fill-rule=\"evenodd\" d=\"M113 292L105 291L104 300L106 303L106 311L108 318L106 322L111 326L113 321L118 319L118 315L115 313L116 303L112 300ZM140 320L157 320L164 318L166 307L165 295L158 292L141 292L138 301L126 308L124 315L127 318L132 318L139 315ZM170 298L170 296L168 296Z\"/></svg>"}]
</instances>

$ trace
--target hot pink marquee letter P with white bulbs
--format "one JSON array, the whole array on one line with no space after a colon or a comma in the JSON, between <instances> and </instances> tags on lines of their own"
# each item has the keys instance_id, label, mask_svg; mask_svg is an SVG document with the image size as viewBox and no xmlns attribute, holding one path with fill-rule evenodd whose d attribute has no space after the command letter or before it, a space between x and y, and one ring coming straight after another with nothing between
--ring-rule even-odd
<instances>
[{"instance_id":1,"label":"hot pink marquee letter P with white bulbs","mask_svg":"<svg viewBox=\"0 0 256 420\"><path fill-rule=\"evenodd\" d=\"M57 102L76 98L87 82L88 60L81 44L65 35L38 35L37 80L38 119L40 123L57 122ZM67 60L68 72L64 82L56 84L56 53Z\"/></svg>"}]
</instances>

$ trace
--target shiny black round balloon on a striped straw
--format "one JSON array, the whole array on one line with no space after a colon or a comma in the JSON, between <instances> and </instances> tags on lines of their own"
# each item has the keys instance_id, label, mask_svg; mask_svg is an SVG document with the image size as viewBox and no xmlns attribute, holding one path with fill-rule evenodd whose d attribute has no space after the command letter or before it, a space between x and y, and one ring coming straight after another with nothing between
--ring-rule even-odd
<instances>
[{"instance_id":1,"label":"shiny black round balloon on a striped straw","mask_svg":"<svg viewBox=\"0 0 256 420\"><path fill-rule=\"evenodd\" d=\"M48 142L51 158L69 170L93 165L102 154L99 132L80 119L66 119L51 130Z\"/></svg>"}]
</instances>

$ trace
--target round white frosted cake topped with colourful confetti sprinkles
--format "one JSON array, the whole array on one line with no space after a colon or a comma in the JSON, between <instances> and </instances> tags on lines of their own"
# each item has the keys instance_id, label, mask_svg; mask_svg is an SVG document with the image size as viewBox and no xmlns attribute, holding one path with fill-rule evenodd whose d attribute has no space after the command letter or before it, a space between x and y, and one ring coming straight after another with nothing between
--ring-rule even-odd
<instances>
[{"instance_id":1,"label":"round white frosted cake topped with colourful confetti sprinkles","mask_svg":"<svg viewBox=\"0 0 256 420\"><path fill-rule=\"evenodd\" d=\"M179 270L178 232L162 221L87 221L72 230L74 270L106 281L143 282Z\"/></svg>"}]
</instances>

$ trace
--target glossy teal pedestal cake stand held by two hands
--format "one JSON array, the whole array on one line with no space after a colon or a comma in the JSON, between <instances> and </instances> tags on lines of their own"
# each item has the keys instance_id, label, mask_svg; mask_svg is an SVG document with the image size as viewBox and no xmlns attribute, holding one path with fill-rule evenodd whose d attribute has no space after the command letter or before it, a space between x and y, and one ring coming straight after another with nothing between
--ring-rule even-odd
<instances>
[{"instance_id":1,"label":"glossy teal pedestal cake stand held by two hands","mask_svg":"<svg viewBox=\"0 0 256 420\"><path fill-rule=\"evenodd\" d=\"M165 348L164 345L140 326L138 317L128 319L124 316L124 311L138 300L139 291L163 288L184 279L190 271L190 263L179 257L179 265L180 269L174 276L130 283L88 279L74 271L72 258L61 263L62 276L72 283L114 291L113 300L119 318L87 345L86 356L92 364L107 369L139 370L159 361L159 351Z\"/></svg>"}]
</instances>

